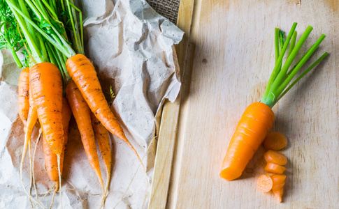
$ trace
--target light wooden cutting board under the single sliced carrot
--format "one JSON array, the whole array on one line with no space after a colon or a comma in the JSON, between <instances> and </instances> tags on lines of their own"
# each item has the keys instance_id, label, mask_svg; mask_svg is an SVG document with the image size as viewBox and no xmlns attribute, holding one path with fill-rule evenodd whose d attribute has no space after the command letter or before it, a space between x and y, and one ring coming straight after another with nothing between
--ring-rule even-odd
<instances>
[{"instance_id":1,"label":"light wooden cutting board under the single sliced carrot","mask_svg":"<svg viewBox=\"0 0 339 209\"><path fill-rule=\"evenodd\" d=\"M339 208L338 8L338 0L181 0L182 92L164 106L149 208ZM219 171L240 116L261 99L273 70L274 29L288 32L293 22L298 38L314 27L300 53L326 34L308 63L330 56L273 107L273 131L289 139L276 203L256 185L264 148L238 180Z\"/></svg>"}]
</instances>

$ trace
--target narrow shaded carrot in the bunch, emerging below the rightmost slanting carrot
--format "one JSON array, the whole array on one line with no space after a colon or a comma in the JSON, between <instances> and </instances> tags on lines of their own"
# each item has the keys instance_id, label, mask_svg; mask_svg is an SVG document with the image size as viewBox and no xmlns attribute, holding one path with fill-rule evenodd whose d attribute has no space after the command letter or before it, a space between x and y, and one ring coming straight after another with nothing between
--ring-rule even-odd
<instances>
[{"instance_id":1,"label":"narrow shaded carrot in the bunch, emerging below the rightmost slanting carrot","mask_svg":"<svg viewBox=\"0 0 339 209\"><path fill-rule=\"evenodd\" d=\"M101 156L103 157L103 164L106 167L106 187L105 194L103 195L103 202L105 203L106 194L108 192L108 187L110 185L110 172L112 169L112 152L110 150L110 137L108 135L108 130L104 127L101 122L94 116L91 112L92 126L94 129L94 134L96 141L98 142Z\"/></svg>"}]
</instances>

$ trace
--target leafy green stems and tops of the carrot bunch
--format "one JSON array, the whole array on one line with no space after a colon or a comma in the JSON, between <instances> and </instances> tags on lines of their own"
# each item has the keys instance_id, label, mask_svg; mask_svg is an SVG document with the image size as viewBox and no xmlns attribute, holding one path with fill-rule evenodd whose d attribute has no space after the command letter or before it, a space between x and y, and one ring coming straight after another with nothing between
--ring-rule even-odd
<instances>
[{"instance_id":1,"label":"leafy green stems and tops of the carrot bunch","mask_svg":"<svg viewBox=\"0 0 339 209\"><path fill-rule=\"evenodd\" d=\"M65 85L70 78L67 59L84 54L82 13L73 0L0 0L1 48L12 52L20 68L42 62L57 65ZM23 63L15 53L20 49Z\"/></svg>"}]
</instances>

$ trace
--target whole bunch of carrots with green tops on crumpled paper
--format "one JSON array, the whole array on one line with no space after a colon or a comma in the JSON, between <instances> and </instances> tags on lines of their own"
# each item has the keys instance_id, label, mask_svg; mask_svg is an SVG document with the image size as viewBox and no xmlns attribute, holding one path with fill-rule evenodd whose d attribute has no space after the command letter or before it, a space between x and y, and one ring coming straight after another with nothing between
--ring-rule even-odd
<instances>
[{"instance_id":1,"label":"whole bunch of carrots with green tops on crumpled paper","mask_svg":"<svg viewBox=\"0 0 339 209\"><path fill-rule=\"evenodd\" d=\"M110 110L94 65L84 55L81 11L71 0L0 0L0 20L0 47L12 52L20 68L26 67L18 84L19 115L25 132L21 178L29 149L31 178L34 179L31 133L38 120L43 133L45 169L50 180L55 182L55 193L60 191L61 202L64 150L73 114L89 164L103 190L103 206L112 164L108 131L128 144L138 160L140 157ZM16 54L20 49L24 61ZM96 141L106 167L106 186L101 177ZM44 208L41 201L31 195L31 188L27 191L23 181L22 186L31 203Z\"/></svg>"}]
</instances>

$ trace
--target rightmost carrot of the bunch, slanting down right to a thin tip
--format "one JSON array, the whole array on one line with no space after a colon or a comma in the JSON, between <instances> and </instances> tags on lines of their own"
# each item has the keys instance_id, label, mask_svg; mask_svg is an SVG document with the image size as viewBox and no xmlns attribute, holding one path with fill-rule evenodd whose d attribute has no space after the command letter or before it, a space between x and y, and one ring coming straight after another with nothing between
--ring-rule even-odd
<instances>
[{"instance_id":1,"label":"rightmost carrot of the bunch, slanting down right to a thin tip","mask_svg":"<svg viewBox=\"0 0 339 209\"><path fill-rule=\"evenodd\" d=\"M122 126L110 110L105 96L103 95L94 66L89 59L82 54L71 56L66 62L66 69L76 86L78 86L82 96L85 98L96 118L99 119L101 124L105 126L109 132L115 134L115 136L128 144L131 149L134 150L134 153L136 153L141 162L136 149L131 145L124 134L124 130L122 130Z\"/></svg>"}]
</instances>

